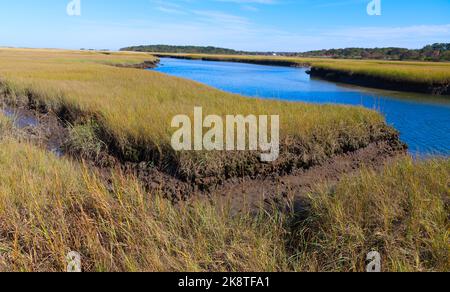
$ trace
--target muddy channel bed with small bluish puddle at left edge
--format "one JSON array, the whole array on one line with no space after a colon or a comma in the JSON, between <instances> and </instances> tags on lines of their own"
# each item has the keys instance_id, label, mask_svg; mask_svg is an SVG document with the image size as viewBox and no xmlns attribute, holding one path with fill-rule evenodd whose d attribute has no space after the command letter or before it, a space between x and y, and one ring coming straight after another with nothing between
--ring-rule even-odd
<instances>
[{"instance_id":1,"label":"muddy channel bed with small bluish puddle at left edge","mask_svg":"<svg viewBox=\"0 0 450 292\"><path fill-rule=\"evenodd\" d=\"M165 174L150 162L122 162L106 151L102 151L95 158L73 151L70 149L71 125L54 112L37 111L23 104L12 107L11 103L4 102L0 105L0 112L12 121L13 127L9 135L18 141L32 143L58 157L83 162L96 171L106 183L112 182L113 171L121 171L139 179L147 191L163 194L174 202L185 201L196 193L194 186Z\"/></svg>"}]
</instances>

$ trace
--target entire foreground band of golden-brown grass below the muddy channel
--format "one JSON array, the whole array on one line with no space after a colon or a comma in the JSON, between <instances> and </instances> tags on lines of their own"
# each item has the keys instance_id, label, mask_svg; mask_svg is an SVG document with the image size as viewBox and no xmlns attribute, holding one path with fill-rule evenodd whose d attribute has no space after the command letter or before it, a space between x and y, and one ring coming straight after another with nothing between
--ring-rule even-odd
<instances>
[{"instance_id":1,"label":"entire foreground band of golden-brown grass below the muddy channel","mask_svg":"<svg viewBox=\"0 0 450 292\"><path fill-rule=\"evenodd\" d=\"M302 220L278 209L173 205L8 135L0 140L0 271L448 271L449 160L405 158L317 187Z\"/></svg>"}]
</instances>

